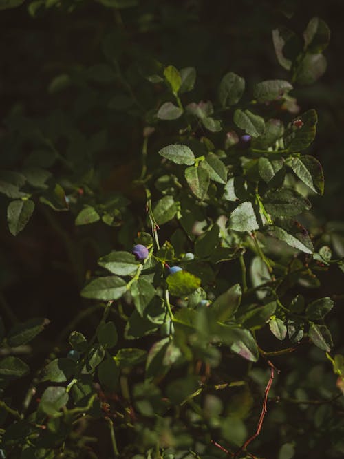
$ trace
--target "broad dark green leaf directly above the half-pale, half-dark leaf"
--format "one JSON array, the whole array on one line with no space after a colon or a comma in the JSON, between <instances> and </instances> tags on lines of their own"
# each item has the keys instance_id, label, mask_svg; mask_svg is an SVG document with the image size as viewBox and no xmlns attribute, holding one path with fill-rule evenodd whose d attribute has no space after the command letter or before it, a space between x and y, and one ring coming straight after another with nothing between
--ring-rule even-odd
<instances>
[{"instance_id":1,"label":"broad dark green leaf directly above the half-pale, half-dark leaf","mask_svg":"<svg viewBox=\"0 0 344 459\"><path fill-rule=\"evenodd\" d=\"M311 208L309 200L292 188L268 191L263 202L272 217L294 217Z\"/></svg>"}]
</instances>

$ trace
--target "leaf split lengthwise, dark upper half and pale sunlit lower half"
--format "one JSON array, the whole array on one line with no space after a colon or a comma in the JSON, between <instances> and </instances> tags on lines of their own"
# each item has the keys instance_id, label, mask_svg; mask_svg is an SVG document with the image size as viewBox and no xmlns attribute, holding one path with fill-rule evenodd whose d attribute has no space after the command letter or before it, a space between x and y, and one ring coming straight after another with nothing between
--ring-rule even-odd
<instances>
[{"instance_id":1,"label":"leaf split lengthwise, dark upper half and pale sunlit lower half","mask_svg":"<svg viewBox=\"0 0 344 459\"><path fill-rule=\"evenodd\" d=\"M307 230L297 220L286 217L277 218L274 224L268 228L268 233L304 253L314 252Z\"/></svg>"}]
</instances>

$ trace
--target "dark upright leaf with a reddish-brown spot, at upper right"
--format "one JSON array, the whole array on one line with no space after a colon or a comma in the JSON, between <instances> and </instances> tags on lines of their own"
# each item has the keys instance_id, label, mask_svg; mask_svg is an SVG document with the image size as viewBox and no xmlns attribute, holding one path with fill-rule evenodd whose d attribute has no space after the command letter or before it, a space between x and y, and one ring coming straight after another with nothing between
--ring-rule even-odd
<instances>
[{"instance_id":1,"label":"dark upright leaf with a reddish-brown spot, at upper right","mask_svg":"<svg viewBox=\"0 0 344 459\"><path fill-rule=\"evenodd\" d=\"M317 122L318 116L313 109L294 118L284 133L284 147L291 152L308 148L314 140Z\"/></svg>"}]
</instances>

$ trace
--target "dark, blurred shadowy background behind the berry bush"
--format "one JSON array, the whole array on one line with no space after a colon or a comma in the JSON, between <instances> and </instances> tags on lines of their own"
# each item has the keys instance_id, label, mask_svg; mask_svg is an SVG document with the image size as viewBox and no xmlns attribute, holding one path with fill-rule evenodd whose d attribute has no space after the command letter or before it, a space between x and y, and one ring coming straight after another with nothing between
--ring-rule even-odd
<instances>
[{"instance_id":1,"label":"dark, blurred shadowy background behind the berry bush","mask_svg":"<svg viewBox=\"0 0 344 459\"><path fill-rule=\"evenodd\" d=\"M74 12L67 3L59 10L39 12L32 19L27 6L0 12L0 166L20 169L30 153L30 142L15 138L3 141L10 112L20 112L27 120L25 129L44 126L45 133L58 138L69 123L82 134L77 147L83 149L89 138L105 130L107 143L94 156L100 193L122 191L131 199L131 209L144 220L144 197L128 185L136 177L142 141L142 121L133 114L103 109L111 89L97 83L85 85L85 69L105 61L101 43L114 33L114 49L125 78L129 78L140 103L151 109L151 89L141 87L136 63L142 55L164 65L197 69L197 84L186 102L215 98L219 80L233 71L246 78L249 87L257 81L286 78L279 67L272 45L272 29L279 25L301 34L308 21L319 16L330 26L332 37L325 50L327 71L310 87L296 87L302 111L315 108L319 127L311 153L323 164L325 195L313 201L314 214L323 227L343 220L344 203L344 4L342 1L141 1L137 8L113 12L94 1L80 2ZM283 12L285 14L283 14ZM48 91L52 78L70 73L78 83L56 94ZM67 127L66 127L67 125ZM20 130L21 128L19 128ZM69 129L69 127L68 127ZM71 148L56 140L62 156ZM81 156L80 171L83 169ZM54 175L75 178L75 170L65 171L60 162ZM96 268L98 256L109 252L126 239L120 229L96 223L85 228L74 226L71 213L54 213L37 204L32 220L17 237L10 235L6 223L8 199L0 198L0 310L6 325L33 316L47 316L49 330L35 341L32 362L41 365L47 352L58 345L67 349L67 332L73 320L89 302L79 296L87 273ZM94 242L96 241L96 242ZM343 244L343 243L341 243ZM344 244L342 245L344 247ZM344 250L344 249L342 249ZM341 255L343 257L344 253ZM343 294L343 273L338 268L324 275L322 295ZM318 295L318 293L316 293ZM336 348L343 346L338 321L332 323ZM85 317L80 331L92 333L97 312ZM343 314L342 314L343 317ZM341 341L342 340L342 341ZM19 391L21 384L18 383ZM20 394L20 392L19 392ZM318 456L314 456L318 457Z\"/></svg>"}]
</instances>

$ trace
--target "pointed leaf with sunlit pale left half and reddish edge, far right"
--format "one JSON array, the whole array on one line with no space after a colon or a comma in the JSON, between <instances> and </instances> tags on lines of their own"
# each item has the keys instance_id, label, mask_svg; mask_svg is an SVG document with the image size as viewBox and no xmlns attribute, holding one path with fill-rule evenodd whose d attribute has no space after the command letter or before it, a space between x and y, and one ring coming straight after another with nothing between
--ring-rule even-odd
<instances>
[{"instance_id":1,"label":"pointed leaf with sunlit pale left half and reddish edge, far right","mask_svg":"<svg viewBox=\"0 0 344 459\"><path fill-rule=\"evenodd\" d=\"M286 161L286 164L311 190L321 195L323 194L323 168L314 156L303 155L299 158L290 158Z\"/></svg>"}]
</instances>

